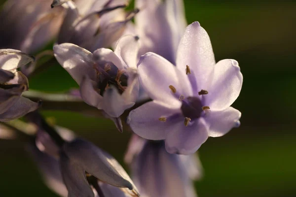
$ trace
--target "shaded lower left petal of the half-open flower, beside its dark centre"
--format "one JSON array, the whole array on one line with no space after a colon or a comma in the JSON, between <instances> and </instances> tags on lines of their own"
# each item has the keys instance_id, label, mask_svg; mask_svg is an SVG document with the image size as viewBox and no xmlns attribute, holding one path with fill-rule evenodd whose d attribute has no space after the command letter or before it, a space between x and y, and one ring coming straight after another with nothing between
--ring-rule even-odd
<instances>
[{"instance_id":1,"label":"shaded lower left petal of the half-open flower, beside its dark centre","mask_svg":"<svg viewBox=\"0 0 296 197\"><path fill-rule=\"evenodd\" d=\"M80 84L80 95L87 104L102 109L103 97L95 91L96 85L95 81L85 75Z\"/></svg>"}]
</instances>

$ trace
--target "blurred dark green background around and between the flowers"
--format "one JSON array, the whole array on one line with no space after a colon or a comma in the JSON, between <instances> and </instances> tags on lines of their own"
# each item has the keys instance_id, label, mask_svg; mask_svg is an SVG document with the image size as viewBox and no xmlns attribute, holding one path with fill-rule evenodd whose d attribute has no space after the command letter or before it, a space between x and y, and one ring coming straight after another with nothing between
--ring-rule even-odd
<instances>
[{"instance_id":1,"label":"blurred dark green background around and between the flowers","mask_svg":"<svg viewBox=\"0 0 296 197\"><path fill-rule=\"evenodd\" d=\"M199 21L209 33L216 60L237 60L244 76L233 104L241 127L199 150L205 169L195 184L199 197L296 197L296 2L185 0L185 10L188 24ZM48 92L74 87L58 65L30 81L31 89ZM119 133L106 119L44 114L122 162L128 131ZM0 140L0 196L56 197L19 141Z\"/></svg>"}]
</instances>

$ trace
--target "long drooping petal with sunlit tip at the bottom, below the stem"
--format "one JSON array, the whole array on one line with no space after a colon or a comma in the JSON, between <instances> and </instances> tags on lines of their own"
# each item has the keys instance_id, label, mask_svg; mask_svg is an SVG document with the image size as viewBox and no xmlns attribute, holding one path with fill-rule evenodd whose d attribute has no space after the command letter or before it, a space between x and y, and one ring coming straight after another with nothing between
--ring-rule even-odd
<instances>
[{"instance_id":1,"label":"long drooping petal with sunlit tip at the bottom, below the stem","mask_svg":"<svg viewBox=\"0 0 296 197\"><path fill-rule=\"evenodd\" d=\"M122 166L91 142L75 139L65 144L63 149L71 161L99 180L116 187L134 189Z\"/></svg>"}]
</instances>

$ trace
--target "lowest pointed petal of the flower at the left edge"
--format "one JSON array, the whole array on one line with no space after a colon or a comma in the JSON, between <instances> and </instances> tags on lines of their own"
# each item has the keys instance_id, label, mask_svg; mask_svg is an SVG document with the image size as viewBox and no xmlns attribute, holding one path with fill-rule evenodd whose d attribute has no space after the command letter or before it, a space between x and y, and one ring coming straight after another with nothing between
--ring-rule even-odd
<instances>
[{"instance_id":1,"label":"lowest pointed petal of the flower at the left edge","mask_svg":"<svg viewBox=\"0 0 296 197\"><path fill-rule=\"evenodd\" d=\"M40 103L33 102L30 99L20 97L6 112L0 115L0 121L7 122L13 119L20 118L25 114L35 111Z\"/></svg>"}]
</instances>

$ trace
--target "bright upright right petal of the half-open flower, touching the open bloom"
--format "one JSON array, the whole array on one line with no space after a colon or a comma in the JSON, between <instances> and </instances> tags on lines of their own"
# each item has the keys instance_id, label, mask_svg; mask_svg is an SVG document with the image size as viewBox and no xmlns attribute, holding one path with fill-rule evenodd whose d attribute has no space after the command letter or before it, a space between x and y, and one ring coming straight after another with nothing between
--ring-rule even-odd
<instances>
[{"instance_id":1,"label":"bright upright right petal of the half-open flower, touching the open bloom","mask_svg":"<svg viewBox=\"0 0 296 197\"><path fill-rule=\"evenodd\" d=\"M139 37L133 35L122 36L114 49L114 53L121 59L125 68L137 68L139 52Z\"/></svg>"}]
</instances>

